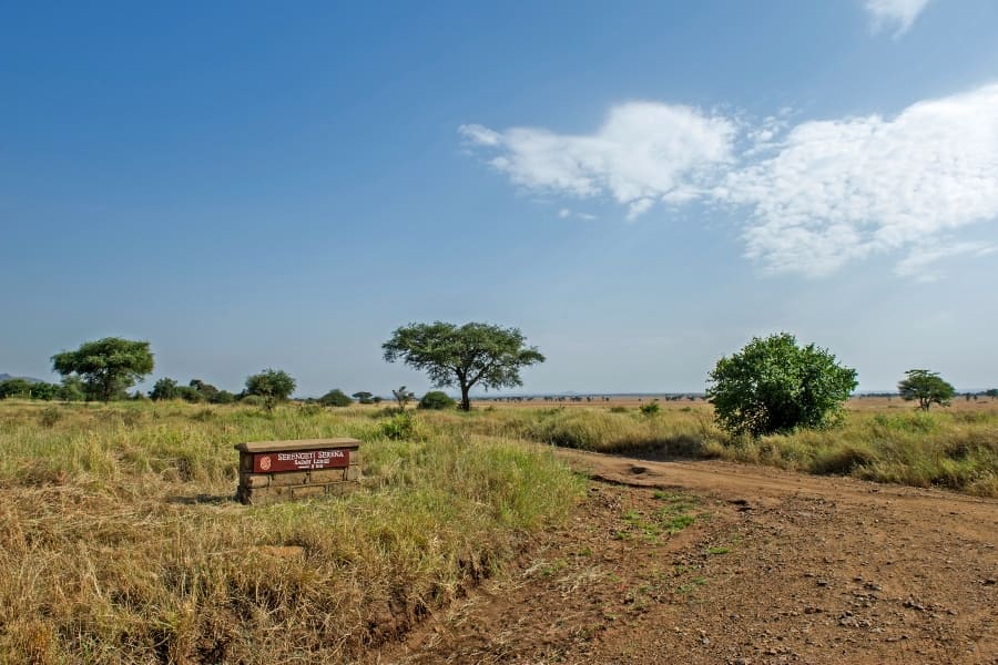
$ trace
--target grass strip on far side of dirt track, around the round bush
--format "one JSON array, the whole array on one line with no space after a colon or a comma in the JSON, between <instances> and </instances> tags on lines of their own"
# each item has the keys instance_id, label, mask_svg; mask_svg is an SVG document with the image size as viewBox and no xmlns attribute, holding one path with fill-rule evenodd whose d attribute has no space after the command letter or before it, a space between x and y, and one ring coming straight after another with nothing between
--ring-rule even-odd
<instances>
[{"instance_id":1,"label":"grass strip on far side of dirt track, around the round bush","mask_svg":"<svg viewBox=\"0 0 998 665\"><path fill-rule=\"evenodd\" d=\"M858 400L863 402L864 400ZM438 427L655 459L719 458L815 474L998 497L998 402L926 413L903 402L846 408L839 424L751 437L717 427L710 403L638 408L497 408L438 413ZM658 403L658 402L655 402ZM969 402L968 402L969 403Z\"/></svg>"}]
</instances>

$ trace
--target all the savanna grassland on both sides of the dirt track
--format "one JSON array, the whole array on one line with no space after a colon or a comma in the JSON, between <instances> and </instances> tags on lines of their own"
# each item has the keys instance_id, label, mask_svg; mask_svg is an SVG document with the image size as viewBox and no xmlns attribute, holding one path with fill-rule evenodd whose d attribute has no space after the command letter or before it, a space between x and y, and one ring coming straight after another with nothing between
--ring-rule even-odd
<instances>
[{"instance_id":1,"label":"all the savanna grassland on both sides of the dirt track","mask_svg":"<svg viewBox=\"0 0 998 665\"><path fill-rule=\"evenodd\" d=\"M354 494L232 501L235 443L356 437ZM543 444L543 446L539 446ZM998 495L998 405L856 400L735 439L710 405L389 409L0 402L0 662L345 662L502 577L589 482L556 447ZM574 518L578 519L578 518Z\"/></svg>"}]
</instances>

